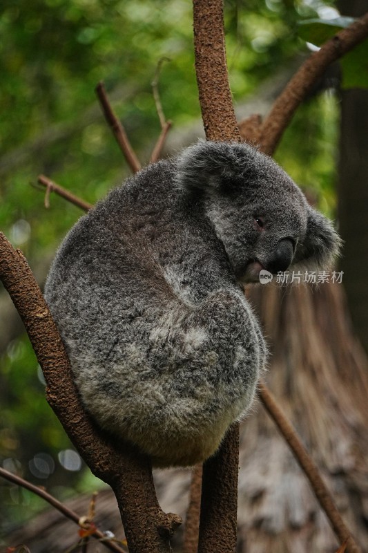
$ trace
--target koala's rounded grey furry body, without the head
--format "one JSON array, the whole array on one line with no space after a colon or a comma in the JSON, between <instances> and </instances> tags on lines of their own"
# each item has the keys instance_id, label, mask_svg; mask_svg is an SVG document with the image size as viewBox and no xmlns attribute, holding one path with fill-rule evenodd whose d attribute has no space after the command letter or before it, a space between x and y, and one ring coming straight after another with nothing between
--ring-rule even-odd
<instances>
[{"instance_id":1,"label":"koala's rounded grey furry body, without the head","mask_svg":"<svg viewBox=\"0 0 368 553\"><path fill-rule=\"evenodd\" d=\"M153 165L81 218L45 290L86 409L159 466L214 453L264 362L223 247L174 172Z\"/></svg>"}]
</instances>

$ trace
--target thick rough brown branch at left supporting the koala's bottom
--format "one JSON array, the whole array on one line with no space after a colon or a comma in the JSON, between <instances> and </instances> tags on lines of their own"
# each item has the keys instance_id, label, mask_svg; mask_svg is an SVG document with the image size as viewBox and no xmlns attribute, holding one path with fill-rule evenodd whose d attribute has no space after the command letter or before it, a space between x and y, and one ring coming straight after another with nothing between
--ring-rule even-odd
<instances>
[{"instance_id":1,"label":"thick rough brown branch at left supporting the koala's bottom","mask_svg":"<svg viewBox=\"0 0 368 553\"><path fill-rule=\"evenodd\" d=\"M130 553L169 553L180 516L165 514L153 485L151 462L130 444L108 440L84 411L66 350L41 290L20 250L0 233L0 279L28 332L47 387L48 403L93 474L117 497Z\"/></svg>"}]
</instances>

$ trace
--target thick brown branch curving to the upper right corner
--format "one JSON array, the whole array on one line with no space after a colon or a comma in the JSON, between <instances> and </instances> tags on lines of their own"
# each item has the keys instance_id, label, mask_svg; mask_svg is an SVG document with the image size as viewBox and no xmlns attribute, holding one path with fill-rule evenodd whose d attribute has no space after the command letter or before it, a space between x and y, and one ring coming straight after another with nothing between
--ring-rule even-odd
<instances>
[{"instance_id":1,"label":"thick brown branch curving to the upper right corner","mask_svg":"<svg viewBox=\"0 0 368 553\"><path fill-rule=\"evenodd\" d=\"M348 28L338 32L318 52L313 53L307 62L304 62L275 101L261 126L260 144L264 153L271 156L275 151L294 112L327 66L349 52L366 37L368 37L368 13Z\"/></svg>"}]
</instances>

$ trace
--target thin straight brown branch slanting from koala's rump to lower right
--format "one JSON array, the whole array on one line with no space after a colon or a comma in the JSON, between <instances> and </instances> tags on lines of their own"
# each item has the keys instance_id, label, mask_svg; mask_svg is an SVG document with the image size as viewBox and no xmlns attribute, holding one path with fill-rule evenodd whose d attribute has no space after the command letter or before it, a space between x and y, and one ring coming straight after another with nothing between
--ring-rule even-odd
<instances>
[{"instance_id":1,"label":"thin straight brown branch slanting from koala's rump to lower right","mask_svg":"<svg viewBox=\"0 0 368 553\"><path fill-rule=\"evenodd\" d=\"M351 536L349 528L342 520L340 513L333 502L333 498L329 493L325 482L323 482L322 477L320 476L320 471L316 467L316 464L307 453L302 442L298 438L296 431L291 426L291 423L282 413L273 395L262 382L258 385L258 397L269 415L271 415L271 418L282 433L285 441L289 444L296 460L304 471L304 474L307 476L311 484L311 488L316 494L320 506L329 518L333 531L336 536L338 536L340 543L347 543L349 553L361 553L356 541L353 536Z\"/></svg>"}]
</instances>

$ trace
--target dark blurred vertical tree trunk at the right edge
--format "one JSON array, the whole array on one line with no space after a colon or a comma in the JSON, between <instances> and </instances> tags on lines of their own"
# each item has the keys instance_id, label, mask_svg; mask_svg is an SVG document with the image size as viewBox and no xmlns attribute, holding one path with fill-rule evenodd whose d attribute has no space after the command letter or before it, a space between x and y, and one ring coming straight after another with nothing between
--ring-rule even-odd
<instances>
[{"instance_id":1,"label":"dark blurred vertical tree trunk at the right edge","mask_svg":"<svg viewBox=\"0 0 368 553\"><path fill-rule=\"evenodd\" d=\"M342 15L368 12L367 0L340 0ZM356 333L368 352L368 91L341 91L338 165L339 231L345 241L340 268Z\"/></svg>"}]
</instances>

